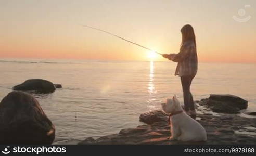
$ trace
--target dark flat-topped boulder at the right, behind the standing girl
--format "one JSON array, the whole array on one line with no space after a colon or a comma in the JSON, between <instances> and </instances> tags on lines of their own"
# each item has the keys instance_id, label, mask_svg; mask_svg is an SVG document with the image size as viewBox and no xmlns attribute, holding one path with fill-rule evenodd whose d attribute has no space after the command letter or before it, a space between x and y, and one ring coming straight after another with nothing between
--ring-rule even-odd
<instances>
[{"instance_id":1,"label":"dark flat-topped boulder at the right, behind the standing girl","mask_svg":"<svg viewBox=\"0 0 256 156\"><path fill-rule=\"evenodd\" d=\"M247 109L248 101L234 95L211 94L206 105L213 112L239 113L239 110Z\"/></svg>"}]
</instances>

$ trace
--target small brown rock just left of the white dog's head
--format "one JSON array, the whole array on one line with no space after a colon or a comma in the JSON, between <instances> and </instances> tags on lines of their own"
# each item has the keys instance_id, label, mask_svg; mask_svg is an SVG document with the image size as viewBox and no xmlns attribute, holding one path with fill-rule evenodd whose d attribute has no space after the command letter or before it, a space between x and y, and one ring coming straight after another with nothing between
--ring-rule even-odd
<instances>
[{"instance_id":1,"label":"small brown rock just left of the white dog's head","mask_svg":"<svg viewBox=\"0 0 256 156\"><path fill-rule=\"evenodd\" d=\"M139 116L139 121L144 122L146 124L153 124L155 122L167 121L167 120L168 120L168 115L161 110L146 112L146 113L140 114Z\"/></svg>"}]
</instances>

